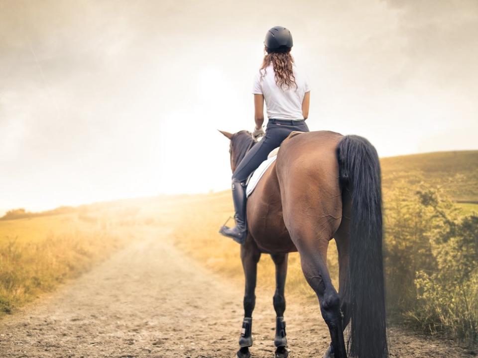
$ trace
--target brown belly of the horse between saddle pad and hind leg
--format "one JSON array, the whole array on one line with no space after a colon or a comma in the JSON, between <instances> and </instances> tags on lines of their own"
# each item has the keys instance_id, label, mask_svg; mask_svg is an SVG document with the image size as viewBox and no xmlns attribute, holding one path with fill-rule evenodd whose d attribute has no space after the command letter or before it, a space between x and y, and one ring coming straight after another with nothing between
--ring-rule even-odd
<instances>
[{"instance_id":1,"label":"brown belly of the horse between saddle pad and hind leg","mask_svg":"<svg viewBox=\"0 0 478 358\"><path fill-rule=\"evenodd\" d=\"M263 252L297 251L284 224L275 163L264 173L247 199L247 226Z\"/></svg>"}]
</instances>

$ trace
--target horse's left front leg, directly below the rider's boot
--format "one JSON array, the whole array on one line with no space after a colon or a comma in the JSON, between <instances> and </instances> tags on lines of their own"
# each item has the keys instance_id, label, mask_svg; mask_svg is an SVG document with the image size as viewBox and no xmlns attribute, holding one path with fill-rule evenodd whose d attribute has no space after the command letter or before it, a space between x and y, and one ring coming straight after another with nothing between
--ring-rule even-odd
<instances>
[{"instance_id":1,"label":"horse's left front leg, directly below the rider's boot","mask_svg":"<svg viewBox=\"0 0 478 358\"><path fill-rule=\"evenodd\" d=\"M255 283L257 278L257 263L260 251L250 236L240 247L240 259L245 276L244 319L239 337L239 358L249 358L249 347L252 346L252 311L255 306Z\"/></svg>"}]
</instances>

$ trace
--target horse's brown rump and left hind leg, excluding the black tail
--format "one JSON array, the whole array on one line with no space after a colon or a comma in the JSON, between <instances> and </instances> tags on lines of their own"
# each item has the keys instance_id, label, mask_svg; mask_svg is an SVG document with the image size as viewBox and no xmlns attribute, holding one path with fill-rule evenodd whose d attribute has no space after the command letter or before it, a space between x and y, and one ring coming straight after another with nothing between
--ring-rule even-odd
<instances>
[{"instance_id":1,"label":"horse's brown rump and left hind leg, excluding the black tail","mask_svg":"<svg viewBox=\"0 0 478 358\"><path fill-rule=\"evenodd\" d=\"M277 158L285 225L307 282L319 299L336 358L346 358L340 298L327 269L327 247L342 217L335 148L341 136L311 132L289 137Z\"/></svg>"}]
</instances>

